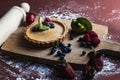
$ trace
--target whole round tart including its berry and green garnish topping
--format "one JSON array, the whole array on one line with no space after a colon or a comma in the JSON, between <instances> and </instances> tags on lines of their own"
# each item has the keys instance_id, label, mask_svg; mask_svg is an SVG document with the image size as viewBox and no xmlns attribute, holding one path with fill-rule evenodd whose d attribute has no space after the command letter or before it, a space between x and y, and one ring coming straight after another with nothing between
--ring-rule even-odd
<instances>
[{"instance_id":1,"label":"whole round tart including its berry and green garnish topping","mask_svg":"<svg viewBox=\"0 0 120 80\"><path fill-rule=\"evenodd\" d=\"M36 17L36 20L27 27L25 38L39 46L53 46L62 42L68 34L66 25L56 19Z\"/></svg>"}]
</instances>

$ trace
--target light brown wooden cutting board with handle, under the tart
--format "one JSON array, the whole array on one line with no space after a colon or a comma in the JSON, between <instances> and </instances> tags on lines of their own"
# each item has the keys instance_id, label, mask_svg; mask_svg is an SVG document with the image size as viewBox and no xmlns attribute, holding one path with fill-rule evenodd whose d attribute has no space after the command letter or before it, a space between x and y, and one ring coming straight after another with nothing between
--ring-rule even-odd
<instances>
[{"instance_id":1,"label":"light brown wooden cutting board with handle, under the tart","mask_svg":"<svg viewBox=\"0 0 120 80\"><path fill-rule=\"evenodd\" d=\"M59 20L64 22L68 28L70 28L71 21L70 20ZM95 50L101 49L109 49L113 51L120 51L120 44L119 43L112 43L107 41L106 35L108 33L108 27L98 24L92 24L93 30L98 34L101 43ZM53 55L49 55L51 48L40 48L31 46L27 43L24 38L24 30L26 27L21 26L19 27L16 32L14 32L7 41L2 45L1 50L3 54L10 55L12 57L20 57L20 58L29 58L33 59L34 61L38 61L45 64L57 64L60 62L59 57L56 56L56 53ZM73 64L73 65L80 65L86 64L89 58L85 56L80 56L82 51L85 50L89 52L89 49L85 49L79 46L77 42L78 38L76 37L74 40L66 39L64 41L65 44L71 43L72 44L72 51L66 55L66 61ZM114 53L115 54L115 53ZM113 54L113 55L114 55ZM120 54L118 54L120 55Z\"/></svg>"}]
</instances>

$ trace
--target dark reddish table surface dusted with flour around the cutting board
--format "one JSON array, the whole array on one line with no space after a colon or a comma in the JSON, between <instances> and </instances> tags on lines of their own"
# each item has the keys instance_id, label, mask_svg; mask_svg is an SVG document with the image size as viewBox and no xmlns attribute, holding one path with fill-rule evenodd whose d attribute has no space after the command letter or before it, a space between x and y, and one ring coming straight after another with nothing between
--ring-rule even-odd
<instances>
[{"instance_id":1,"label":"dark reddish table surface dusted with flour around the cutting board","mask_svg":"<svg viewBox=\"0 0 120 80\"><path fill-rule=\"evenodd\" d=\"M41 16L72 19L86 17L94 23L109 26L108 39L120 42L120 1L119 0L1 0L0 17L12 6L28 2L31 12ZM54 68L25 61L11 59L0 53L0 80L63 80L55 76ZM76 70L80 80L81 70ZM120 60L105 57L104 68L94 80L119 80Z\"/></svg>"}]
</instances>

